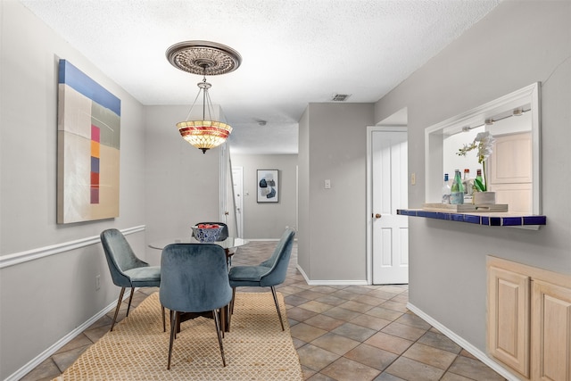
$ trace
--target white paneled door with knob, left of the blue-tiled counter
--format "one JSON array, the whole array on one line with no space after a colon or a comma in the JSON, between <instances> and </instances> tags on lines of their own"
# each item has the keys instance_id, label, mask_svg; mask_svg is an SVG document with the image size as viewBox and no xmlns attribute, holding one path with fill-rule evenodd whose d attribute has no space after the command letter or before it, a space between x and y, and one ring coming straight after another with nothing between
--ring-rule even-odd
<instances>
[{"instance_id":1,"label":"white paneled door with knob, left of the blue-tiled counter","mask_svg":"<svg viewBox=\"0 0 571 381\"><path fill-rule=\"evenodd\" d=\"M406 131L371 131L373 284L409 283Z\"/></svg>"}]
</instances>

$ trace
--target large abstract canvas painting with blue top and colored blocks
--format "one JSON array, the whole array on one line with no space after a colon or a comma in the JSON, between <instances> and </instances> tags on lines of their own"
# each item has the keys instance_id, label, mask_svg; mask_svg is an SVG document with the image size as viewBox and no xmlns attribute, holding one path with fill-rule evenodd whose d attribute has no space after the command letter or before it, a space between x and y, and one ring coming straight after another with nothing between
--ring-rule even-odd
<instances>
[{"instance_id":1,"label":"large abstract canvas painting with blue top and colored blocks","mask_svg":"<svg viewBox=\"0 0 571 381\"><path fill-rule=\"evenodd\" d=\"M59 62L57 223L119 217L120 99Z\"/></svg>"}]
</instances>

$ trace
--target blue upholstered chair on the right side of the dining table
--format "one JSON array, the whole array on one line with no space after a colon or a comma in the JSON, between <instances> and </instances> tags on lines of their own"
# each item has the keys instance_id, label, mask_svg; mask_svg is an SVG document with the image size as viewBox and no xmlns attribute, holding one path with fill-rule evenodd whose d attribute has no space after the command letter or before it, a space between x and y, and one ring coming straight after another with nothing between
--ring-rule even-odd
<instances>
[{"instance_id":1,"label":"blue upholstered chair on the right side of the dining table","mask_svg":"<svg viewBox=\"0 0 571 381\"><path fill-rule=\"evenodd\" d=\"M258 266L235 266L230 269L228 277L230 278L230 286L232 287L232 302L230 303L229 321L234 312L234 298L236 297L236 287L254 286L254 287L270 287L271 294L276 302L277 316L284 330L284 322L282 313L279 311L279 303L277 302L276 287L285 280L289 258L294 245L295 231L292 228L285 229L284 234L276 245L274 253L268 260L261 262Z\"/></svg>"}]
</instances>

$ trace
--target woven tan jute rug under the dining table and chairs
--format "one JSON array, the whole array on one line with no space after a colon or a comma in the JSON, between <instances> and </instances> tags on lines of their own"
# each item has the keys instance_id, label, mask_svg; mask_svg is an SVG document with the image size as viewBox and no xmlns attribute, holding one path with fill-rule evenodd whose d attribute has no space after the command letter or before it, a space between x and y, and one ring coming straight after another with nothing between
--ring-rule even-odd
<instances>
[{"instance_id":1,"label":"woven tan jute rug under the dining table and chairs","mask_svg":"<svg viewBox=\"0 0 571 381\"><path fill-rule=\"evenodd\" d=\"M214 321L198 318L182 323L167 370L169 325L162 332L161 304L155 293L54 380L302 380L284 298L277 296L285 331L271 293L236 293L230 332L222 339L226 368Z\"/></svg>"}]
</instances>

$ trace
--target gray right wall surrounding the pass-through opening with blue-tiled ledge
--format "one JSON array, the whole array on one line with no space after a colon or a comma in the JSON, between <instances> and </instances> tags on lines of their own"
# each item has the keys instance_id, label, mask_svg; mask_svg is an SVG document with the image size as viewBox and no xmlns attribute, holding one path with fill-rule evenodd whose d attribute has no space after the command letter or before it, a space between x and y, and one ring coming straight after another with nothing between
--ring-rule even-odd
<instances>
[{"instance_id":1,"label":"gray right wall surrounding the pass-through opening with blue-tiled ledge","mask_svg":"<svg viewBox=\"0 0 571 381\"><path fill-rule=\"evenodd\" d=\"M571 274L571 3L503 2L382 98L375 120L409 111L410 207L424 203L424 129L542 82L539 231L410 218L410 302L485 352L485 255Z\"/></svg>"}]
</instances>

